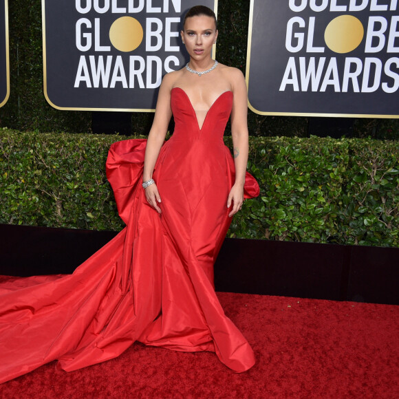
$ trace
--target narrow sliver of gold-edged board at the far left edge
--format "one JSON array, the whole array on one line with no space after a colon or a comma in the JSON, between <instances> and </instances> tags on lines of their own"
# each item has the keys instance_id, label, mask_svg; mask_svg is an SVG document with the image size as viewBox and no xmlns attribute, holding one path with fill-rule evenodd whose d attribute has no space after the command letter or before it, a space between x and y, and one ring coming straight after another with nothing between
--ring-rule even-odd
<instances>
[{"instance_id":1,"label":"narrow sliver of gold-edged board at the far left edge","mask_svg":"<svg viewBox=\"0 0 399 399\"><path fill-rule=\"evenodd\" d=\"M8 0L0 0L0 107L10 96L10 60L8 56Z\"/></svg>"}]
</instances>

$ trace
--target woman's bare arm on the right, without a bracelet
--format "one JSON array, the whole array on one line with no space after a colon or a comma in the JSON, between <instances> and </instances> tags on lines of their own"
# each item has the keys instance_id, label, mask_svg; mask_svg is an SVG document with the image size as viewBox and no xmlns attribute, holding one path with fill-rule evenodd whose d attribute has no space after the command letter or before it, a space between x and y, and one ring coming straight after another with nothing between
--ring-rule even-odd
<instances>
[{"instance_id":1,"label":"woman's bare arm on the right, without a bracelet","mask_svg":"<svg viewBox=\"0 0 399 399\"><path fill-rule=\"evenodd\" d=\"M233 136L233 156L235 163L235 183L230 190L227 207L233 203L228 214L235 215L244 202L244 183L248 162L248 97L244 75L239 69L231 72L233 89L233 109L231 111L231 135Z\"/></svg>"}]
</instances>

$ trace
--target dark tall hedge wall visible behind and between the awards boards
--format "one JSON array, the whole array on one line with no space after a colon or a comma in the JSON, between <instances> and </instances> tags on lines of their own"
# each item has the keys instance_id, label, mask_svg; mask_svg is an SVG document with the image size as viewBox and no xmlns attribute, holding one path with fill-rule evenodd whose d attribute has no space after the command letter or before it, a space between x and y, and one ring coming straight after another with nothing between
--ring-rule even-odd
<instances>
[{"instance_id":1,"label":"dark tall hedge wall visible behind and between the awards boards","mask_svg":"<svg viewBox=\"0 0 399 399\"><path fill-rule=\"evenodd\" d=\"M73 0L70 0L73 1ZM217 60L245 72L249 0L219 0ZM90 132L91 112L59 111L43 96L41 1L8 1L10 98L0 108L0 127L19 130ZM132 132L147 134L152 113L133 113ZM252 136L308 136L308 118L248 112ZM398 119L356 119L355 137L398 139Z\"/></svg>"}]
</instances>

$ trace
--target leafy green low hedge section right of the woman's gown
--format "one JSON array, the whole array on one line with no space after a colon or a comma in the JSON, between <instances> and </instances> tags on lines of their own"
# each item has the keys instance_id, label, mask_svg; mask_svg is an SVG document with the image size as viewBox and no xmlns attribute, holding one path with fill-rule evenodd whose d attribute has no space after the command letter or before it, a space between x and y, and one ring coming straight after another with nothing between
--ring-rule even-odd
<instances>
[{"instance_id":1,"label":"leafy green low hedge section right of the woman's gown","mask_svg":"<svg viewBox=\"0 0 399 399\"><path fill-rule=\"evenodd\" d=\"M261 197L244 204L231 237L399 246L398 142L257 138L251 146Z\"/></svg>"}]
</instances>

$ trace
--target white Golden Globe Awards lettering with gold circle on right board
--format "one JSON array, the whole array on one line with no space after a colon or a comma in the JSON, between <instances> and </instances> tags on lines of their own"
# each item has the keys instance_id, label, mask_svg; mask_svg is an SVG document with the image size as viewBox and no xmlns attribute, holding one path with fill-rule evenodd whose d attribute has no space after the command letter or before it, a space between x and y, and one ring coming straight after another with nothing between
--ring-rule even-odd
<instances>
[{"instance_id":1,"label":"white Golden Globe Awards lettering with gold circle on right board","mask_svg":"<svg viewBox=\"0 0 399 399\"><path fill-rule=\"evenodd\" d=\"M399 58L389 56L384 63L378 54L398 54L399 16L388 19L383 14L398 9L398 0L289 0L290 10L299 13L330 11L350 12L335 17L324 29L324 45L314 44L317 14L304 19L299 16L288 20L285 48L290 53L322 54L327 47L337 54L348 54L364 41L362 58L345 56L339 68L337 58L326 56L290 56L285 67L279 91L323 92L332 87L335 92L353 91L371 93L382 89L394 93L399 88ZM367 24L356 18L356 12L369 10ZM373 56L368 56L373 54Z\"/></svg>"}]
</instances>

